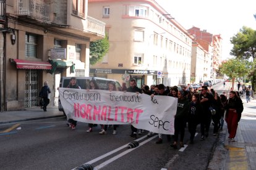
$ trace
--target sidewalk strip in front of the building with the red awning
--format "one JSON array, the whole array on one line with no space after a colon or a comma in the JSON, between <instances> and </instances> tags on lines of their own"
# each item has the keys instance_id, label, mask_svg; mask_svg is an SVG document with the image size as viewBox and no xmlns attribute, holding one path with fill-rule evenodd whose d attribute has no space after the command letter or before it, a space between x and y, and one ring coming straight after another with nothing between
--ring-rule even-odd
<instances>
[{"instance_id":1,"label":"sidewalk strip in front of the building with the red awning","mask_svg":"<svg viewBox=\"0 0 256 170\"><path fill-rule=\"evenodd\" d=\"M40 107L27 108L18 111L2 111L0 112L0 124L60 116L63 116L63 112L59 111L58 107L53 106L48 106L47 111L43 111Z\"/></svg>"}]
</instances>

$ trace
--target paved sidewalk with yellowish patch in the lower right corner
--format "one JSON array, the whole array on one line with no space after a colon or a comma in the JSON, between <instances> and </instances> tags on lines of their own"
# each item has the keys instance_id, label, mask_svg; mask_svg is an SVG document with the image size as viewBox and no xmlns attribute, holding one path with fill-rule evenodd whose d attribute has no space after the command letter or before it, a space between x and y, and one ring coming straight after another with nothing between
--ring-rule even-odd
<instances>
[{"instance_id":1,"label":"paved sidewalk with yellowish patch in the lower right corner","mask_svg":"<svg viewBox=\"0 0 256 170\"><path fill-rule=\"evenodd\" d=\"M208 169L256 169L256 100L244 102L236 142L228 140L226 123L220 132Z\"/></svg>"}]
</instances>

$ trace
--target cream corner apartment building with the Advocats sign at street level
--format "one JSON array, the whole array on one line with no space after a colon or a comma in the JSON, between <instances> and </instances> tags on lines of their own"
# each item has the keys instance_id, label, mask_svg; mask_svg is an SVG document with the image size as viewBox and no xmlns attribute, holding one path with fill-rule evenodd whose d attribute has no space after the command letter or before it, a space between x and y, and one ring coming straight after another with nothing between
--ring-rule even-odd
<instances>
[{"instance_id":1,"label":"cream corner apartment building with the Advocats sign at street level","mask_svg":"<svg viewBox=\"0 0 256 170\"><path fill-rule=\"evenodd\" d=\"M110 45L91 75L139 87L190 83L193 37L155 1L88 0L88 15L106 23Z\"/></svg>"}]
</instances>

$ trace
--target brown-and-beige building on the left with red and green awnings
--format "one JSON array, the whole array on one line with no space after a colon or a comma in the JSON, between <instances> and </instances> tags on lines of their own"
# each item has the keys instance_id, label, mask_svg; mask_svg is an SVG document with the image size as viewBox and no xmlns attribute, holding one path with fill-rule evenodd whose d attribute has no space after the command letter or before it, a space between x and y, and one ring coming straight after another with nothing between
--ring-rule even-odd
<instances>
[{"instance_id":1,"label":"brown-and-beige building on the left with red and green awnings","mask_svg":"<svg viewBox=\"0 0 256 170\"><path fill-rule=\"evenodd\" d=\"M87 13L87 0L0 1L1 111L36 107L44 81L54 105L62 76L89 75L90 41L105 23Z\"/></svg>"}]
</instances>

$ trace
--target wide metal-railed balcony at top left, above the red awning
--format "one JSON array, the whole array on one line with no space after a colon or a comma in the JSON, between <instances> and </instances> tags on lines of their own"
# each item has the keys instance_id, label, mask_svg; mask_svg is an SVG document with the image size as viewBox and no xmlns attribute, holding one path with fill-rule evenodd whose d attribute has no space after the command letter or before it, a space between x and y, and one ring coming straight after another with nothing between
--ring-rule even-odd
<instances>
[{"instance_id":1,"label":"wide metal-railed balcony at top left, above the red awning","mask_svg":"<svg viewBox=\"0 0 256 170\"><path fill-rule=\"evenodd\" d=\"M16 0L16 15L49 21L49 0Z\"/></svg>"}]
</instances>

